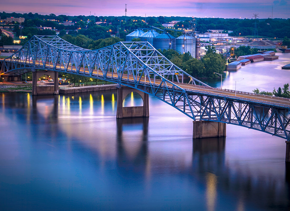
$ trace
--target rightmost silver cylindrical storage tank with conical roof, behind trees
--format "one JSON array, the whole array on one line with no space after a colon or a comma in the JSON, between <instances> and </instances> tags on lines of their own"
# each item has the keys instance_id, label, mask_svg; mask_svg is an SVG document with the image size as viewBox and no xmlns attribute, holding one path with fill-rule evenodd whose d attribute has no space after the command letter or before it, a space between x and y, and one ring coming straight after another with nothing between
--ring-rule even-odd
<instances>
[{"instance_id":1,"label":"rightmost silver cylindrical storage tank with conical roof, behind trees","mask_svg":"<svg viewBox=\"0 0 290 211\"><path fill-rule=\"evenodd\" d=\"M176 51L182 54L189 52L192 57L195 57L195 37L185 34L177 37Z\"/></svg>"}]
</instances>

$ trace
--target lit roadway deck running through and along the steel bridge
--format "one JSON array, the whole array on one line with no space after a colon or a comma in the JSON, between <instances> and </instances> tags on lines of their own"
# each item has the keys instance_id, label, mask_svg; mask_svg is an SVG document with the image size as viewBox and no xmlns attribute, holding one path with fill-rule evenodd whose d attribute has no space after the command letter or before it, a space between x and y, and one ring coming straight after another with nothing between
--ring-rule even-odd
<instances>
[{"instance_id":1,"label":"lit roadway deck running through and along the steel bridge","mask_svg":"<svg viewBox=\"0 0 290 211\"><path fill-rule=\"evenodd\" d=\"M25 62L19 62L19 63L25 63ZM31 63L32 61L26 61L27 63ZM37 64L38 63L38 64ZM35 65L43 68L42 62L37 61L35 62ZM53 70L53 65L52 64L46 64L45 68L51 68L51 70ZM64 71L64 68L61 68L59 65L56 65L55 67L55 71L58 71L57 68L60 68L60 71ZM77 69L75 68L75 66L68 66L67 68L70 71L77 71ZM91 77L89 75L89 70L88 68L81 68L80 71L85 71L85 73L87 73L87 77ZM71 72L67 72L67 73L71 73ZM112 75L113 74L113 75ZM101 70L97 71L97 70L93 70L92 76L94 77L99 77L99 78L103 78L103 72ZM118 79L118 75L117 73L112 73L112 72L108 72L107 73L107 78L110 79ZM136 77L136 76L135 76ZM134 77L133 75L123 75L122 78L124 79L129 79L134 81ZM139 80L139 76L136 77L136 80ZM141 82L145 82L145 78L141 77L140 79ZM158 86L160 83L162 83L162 80L158 80L155 79L155 84ZM176 86L181 87L182 89L186 89L187 91L192 91L192 92L207 92L209 94L213 94L213 95L220 95L220 96L226 96L226 97L231 97L231 98L235 98L235 99L241 99L242 100L249 100L249 101L253 101L253 102L259 102L259 103L266 103L266 104L272 104L272 105L278 105L278 106L282 106L282 107L290 107L290 99L287 98L280 98L280 97L273 97L273 96L269 96L269 95L260 95L260 94L255 94L255 93L249 93L249 92L241 92L241 91L237 91L236 96L235 96L235 91L234 90L227 90L227 89L218 89L218 88L212 88L212 87L206 87L206 86L198 86L198 85L194 85L194 84L186 84L186 83L178 83L178 82L172 82L174 83ZM148 84L148 86L150 85L149 80L147 79L146 84ZM168 87L172 87L171 84L167 84Z\"/></svg>"}]
</instances>

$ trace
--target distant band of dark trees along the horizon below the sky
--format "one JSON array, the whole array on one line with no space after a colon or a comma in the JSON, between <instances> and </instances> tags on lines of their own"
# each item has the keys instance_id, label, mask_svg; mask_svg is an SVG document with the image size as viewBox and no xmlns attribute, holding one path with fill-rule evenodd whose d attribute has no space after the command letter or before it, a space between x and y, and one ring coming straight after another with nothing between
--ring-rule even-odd
<instances>
[{"instance_id":1,"label":"distant band of dark trees along the horizon below the sky","mask_svg":"<svg viewBox=\"0 0 290 211\"><path fill-rule=\"evenodd\" d=\"M79 29L76 35L83 34L87 35L91 39L101 39L107 38L110 34L116 34L117 28L119 28L119 33L121 38L126 33L131 32L136 28L146 28L148 25L160 27L162 28L163 23L170 22L173 20L179 20L177 24L175 24L175 28L187 28L189 27L189 21L192 18L189 17L147 17L146 22L144 22L145 17L127 17L127 22L125 22L125 17L114 17L114 16L67 16L67 15L59 15L55 14L50 15L40 15L38 13L32 14L30 13L6 13L0 12L0 16L2 19L6 17L24 17L25 21L22 23L24 27L52 27L57 30L75 30ZM241 33L241 36L251 36L253 32L253 23L254 19L224 19L224 18L195 18L197 20L197 28L196 31L201 33L206 32L208 29L224 29L225 32L228 30L232 30L233 33L231 35L238 36ZM50 20L56 20L50 21ZM64 26L61 23L62 21L72 21L74 25L72 26ZM105 22L96 27L94 24L96 21ZM265 37L290 37L290 19L258 19L257 20L258 33L260 36ZM104 28L101 28L104 27ZM111 31L110 31L111 30ZM107 32L108 31L108 32ZM107 33L107 34L106 34ZM176 32L172 32L172 34ZM23 35L25 35L23 33ZM101 37L100 37L101 36Z\"/></svg>"}]
</instances>

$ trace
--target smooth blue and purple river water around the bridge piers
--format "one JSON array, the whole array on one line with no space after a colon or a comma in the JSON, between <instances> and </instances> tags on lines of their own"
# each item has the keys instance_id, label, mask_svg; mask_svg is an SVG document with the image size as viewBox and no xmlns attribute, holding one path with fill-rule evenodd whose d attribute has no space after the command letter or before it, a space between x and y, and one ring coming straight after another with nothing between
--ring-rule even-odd
<instances>
[{"instance_id":1,"label":"smooth blue and purple river water around the bridge piers","mask_svg":"<svg viewBox=\"0 0 290 211\"><path fill-rule=\"evenodd\" d=\"M223 88L290 82L290 54L277 55L227 73ZM0 210L290 209L282 138L227 125L225 138L192 140L173 107L150 97L149 118L116 120L116 99L0 93Z\"/></svg>"}]
</instances>

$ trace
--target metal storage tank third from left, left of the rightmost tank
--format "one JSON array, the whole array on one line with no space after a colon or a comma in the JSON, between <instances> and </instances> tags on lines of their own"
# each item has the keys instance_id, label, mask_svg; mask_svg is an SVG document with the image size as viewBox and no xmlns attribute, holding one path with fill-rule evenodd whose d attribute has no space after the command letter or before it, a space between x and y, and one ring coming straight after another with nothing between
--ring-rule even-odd
<instances>
[{"instance_id":1,"label":"metal storage tank third from left, left of the rightmost tank","mask_svg":"<svg viewBox=\"0 0 290 211\"><path fill-rule=\"evenodd\" d=\"M161 51L173 49L175 50L176 38L168 33L162 33L153 38L153 46L156 49L161 49Z\"/></svg>"}]
</instances>

